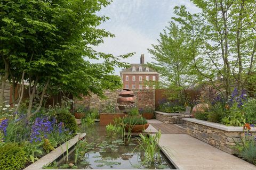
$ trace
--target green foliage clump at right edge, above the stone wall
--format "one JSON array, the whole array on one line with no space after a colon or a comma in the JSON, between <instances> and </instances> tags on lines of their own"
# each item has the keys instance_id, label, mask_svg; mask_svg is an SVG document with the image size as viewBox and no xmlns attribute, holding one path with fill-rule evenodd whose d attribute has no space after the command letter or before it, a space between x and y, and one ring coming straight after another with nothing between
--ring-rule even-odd
<instances>
[{"instance_id":1,"label":"green foliage clump at right edge, above the stone wall","mask_svg":"<svg viewBox=\"0 0 256 170\"><path fill-rule=\"evenodd\" d=\"M256 124L256 99L250 98L242 106L246 123Z\"/></svg>"}]
</instances>

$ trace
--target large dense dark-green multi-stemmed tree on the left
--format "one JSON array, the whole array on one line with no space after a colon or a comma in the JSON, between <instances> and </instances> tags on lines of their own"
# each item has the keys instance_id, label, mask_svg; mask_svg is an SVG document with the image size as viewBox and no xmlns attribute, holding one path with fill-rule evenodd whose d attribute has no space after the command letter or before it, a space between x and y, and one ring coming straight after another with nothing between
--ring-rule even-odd
<instances>
[{"instance_id":1,"label":"large dense dark-green multi-stemmed tree on the left","mask_svg":"<svg viewBox=\"0 0 256 170\"><path fill-rule=\"evenodd\" d=\"M132 54L115 57L92 48L103 43L103 38L114 36L97 28L108 18L95 13L109 3L108 0L1 1L0 12L4 14L0 21L0 55L4 62L1 81L2 84L8 78L21 84L23 80L29 81L28 118L33 115L38 86L42 91L36 111L41 108L49 87L60 86L59 90L74 95L89 91L102 95L104 89L118 87L118 79L111 74L114 67L126 65L119 61L121 58ZM105 62L91 64L85 58L103 58ZM1 95L2 92L0 99Z\"/></svg>"}]
</instances>

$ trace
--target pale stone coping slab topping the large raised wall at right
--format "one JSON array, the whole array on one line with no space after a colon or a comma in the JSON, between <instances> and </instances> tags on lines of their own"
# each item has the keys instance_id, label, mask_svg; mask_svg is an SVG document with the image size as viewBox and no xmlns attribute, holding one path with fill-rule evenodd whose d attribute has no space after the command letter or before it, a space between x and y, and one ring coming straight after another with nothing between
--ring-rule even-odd
<instances>
[{"instance_id":1,"label":"pale stone coping slab topping the large raised wall at right","mask_svg":"<svg viewBox=\"0 0 256 170\"><path fill-rule=\"evenodd\" d=\"M197 124L202 124L205 126L209 126L209 127L220 129L220 130L227 131L227 132L244 132L243 127L240 127L240 126L226 126L226 125L223 125L220 123L213 123L213 122L197 120L196 118L182 118L182 120L197 123ZM250 132L256 132L256 128L251 127Z\"/></svg>"}]
</instances>

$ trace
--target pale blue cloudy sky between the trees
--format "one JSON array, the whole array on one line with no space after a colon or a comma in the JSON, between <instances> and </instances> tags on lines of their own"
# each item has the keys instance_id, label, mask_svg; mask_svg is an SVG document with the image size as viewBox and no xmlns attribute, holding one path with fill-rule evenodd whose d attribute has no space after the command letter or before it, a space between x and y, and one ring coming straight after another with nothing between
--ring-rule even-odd
<instances>
[{"instance_id":1,"label":"pale blue cloudy sky between the trees","mask_svg":"<svg viewBox=\"0 0 256 170\"><path fill-rule=\"evenodd\" d=\"M104 43L94 49L114 56L135 52L132 57L122 60L127 63L140 63L141 54L145 54L145 63L152 62L147 49L157 44L159 33L175 16L173 7L180 5L185 5L192 13L198 10L189 0L113 0L98 15L110 18L99 28L114 33L115 37L105 38ZM115 74L119 75L121 70L116 68Z\"/></svg>"}]
</instances>

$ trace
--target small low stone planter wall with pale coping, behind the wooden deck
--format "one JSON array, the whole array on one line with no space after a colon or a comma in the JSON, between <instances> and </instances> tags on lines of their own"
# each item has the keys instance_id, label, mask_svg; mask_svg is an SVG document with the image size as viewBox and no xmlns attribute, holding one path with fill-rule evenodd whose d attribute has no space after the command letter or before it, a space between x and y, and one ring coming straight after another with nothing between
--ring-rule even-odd
<instances>
[{"instance_id":1,"label":"small low stone planter wall with pale coping, behind the wooden deck","mask_svg":"<svg viewBox=\"0 0 256 170\"><path fill-rule=\"evenodd\" d=\"M156 119L164 123L181 124L183 122L181 118L184 115L183 113L164 113L155 111L155 114Z\"/></svg>"}]
</instances>

